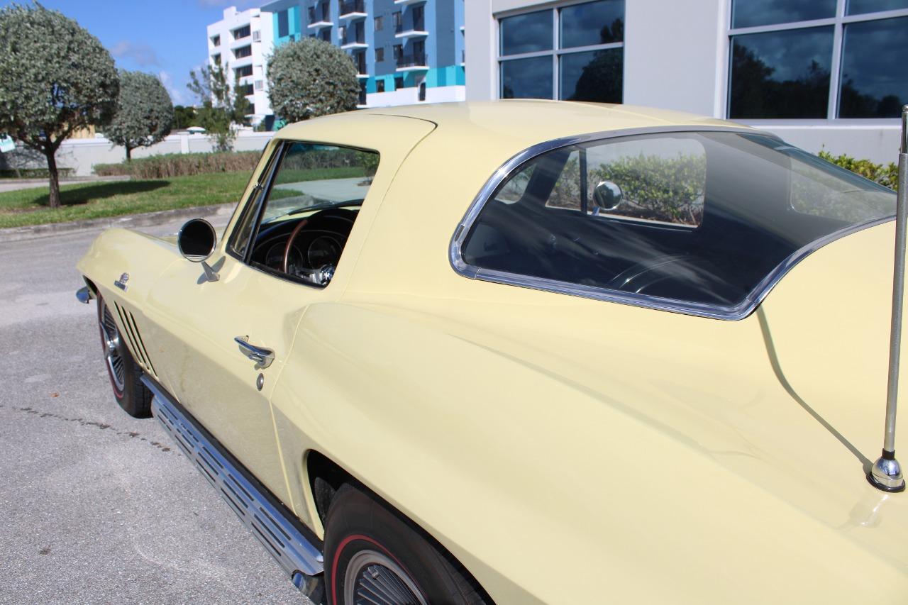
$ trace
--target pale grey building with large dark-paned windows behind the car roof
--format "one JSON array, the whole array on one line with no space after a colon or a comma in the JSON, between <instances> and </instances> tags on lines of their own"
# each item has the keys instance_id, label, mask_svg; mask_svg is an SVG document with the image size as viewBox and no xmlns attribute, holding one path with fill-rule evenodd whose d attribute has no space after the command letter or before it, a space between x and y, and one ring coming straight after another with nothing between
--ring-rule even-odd
<instances>
[{"instance_id":1,"label":"pale grey building with large dark-paned windows behind the car roof","mask_svg":"<svg viewBox=\"0 0 908 605\"><path fill-rule=\"evenodd\" d=\"M468 0L467 98L663 107L898 153L908 0Z\"/></svg>"}]
</instances>

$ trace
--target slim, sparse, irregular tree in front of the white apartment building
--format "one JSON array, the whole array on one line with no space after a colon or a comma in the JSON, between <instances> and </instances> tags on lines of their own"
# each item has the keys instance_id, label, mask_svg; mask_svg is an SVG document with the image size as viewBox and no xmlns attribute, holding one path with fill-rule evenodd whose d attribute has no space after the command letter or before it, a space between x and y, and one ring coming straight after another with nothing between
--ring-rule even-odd
<instances>
[{"instance_id":1,"label":"slim, sparse, irregular tree in front of the white apartment building","mask_svg":"<svg viewBox=\"0 0 908 605\"><path fill-rule=\"evenodd\" d=\"M236 139L233 124L249 124L249 101L228 82L226 65L202 65L198 74L193 70L189 77L186 87L202 103L196 111L197 124L214 135L215 151L231 151Z\"/></svg>"}]
</instances>

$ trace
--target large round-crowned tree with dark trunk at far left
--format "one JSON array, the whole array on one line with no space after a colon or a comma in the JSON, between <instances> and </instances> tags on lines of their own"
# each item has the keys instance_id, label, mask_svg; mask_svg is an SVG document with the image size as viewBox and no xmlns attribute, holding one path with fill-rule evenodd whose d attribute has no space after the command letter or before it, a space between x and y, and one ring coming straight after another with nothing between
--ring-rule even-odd
<instances>
[{"instance_id":1,"label":"large round-crowned tree with dark trunk at far left","mask_svg":"<svg viewBox=\"0 0 908 605\"><path fill-rule=\"evenodd\" d=\"M51 207L60 206L57 149L106 124L119 90L113 57L74 20L38 4L0 8L0 133L44 154Z\"/></svg>"}]
</instances>

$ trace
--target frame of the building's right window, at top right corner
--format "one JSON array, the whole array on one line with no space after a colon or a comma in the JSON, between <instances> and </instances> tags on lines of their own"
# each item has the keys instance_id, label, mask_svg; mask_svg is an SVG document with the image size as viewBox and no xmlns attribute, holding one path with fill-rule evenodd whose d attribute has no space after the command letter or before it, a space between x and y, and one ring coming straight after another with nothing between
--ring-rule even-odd
<instances>
[{"instance_id":1,"label":"frame of the building's right window, at top right corner","mask_svg":"<svg viewBox=\"0 0 908 605\"><path fill-rule=\"evenodd\" d=\"M857 124L868 124L868 120L873 120L876 122L883 123L893 123L898 118L852 118L852 117L839 117L839 105L841 103L841 88L842 88L842 61L844 53L844 28L845 25L853 23L863 23L866 21L883 21L885 19L892 19L896 17L905 17L908 16L908 8L898 8L888 11L878 11L876 13L862 13L860 15L845 15L845 10L847 8L847 0L836 0L835 4L835 15L832 17L827 17L824 19L811 19L808 21L792 21L787 23L777 23L772 25L755 25L753 27L733 27L732 26L732 12L733 5L735 0L731 0L728 3L728 14L725 23L727 25L725 32L725 41L727 43L727 58L725 60L725 119L733 119L728 117L731 114L731 94L732 94L732 44L735 35L748 35L748 34L769 34L774 32L795 30L795 29L808 29L811 27L820 27L833 25L833 56L832 63L829 68L829 98L826 103L826 117L824 118L802 118L802 119L792 119L792 118L773 118L773 117L764 117L764 118L734 118L739 122L745 122L745 124L759 124L759 123L768 123L768 122L777 122L785 121L786 124L790 123L800 123L800 124L816 124L817 122L828 122L830 120L835 120L837 123L857 123Z\"/></svg>"}]
</instances>

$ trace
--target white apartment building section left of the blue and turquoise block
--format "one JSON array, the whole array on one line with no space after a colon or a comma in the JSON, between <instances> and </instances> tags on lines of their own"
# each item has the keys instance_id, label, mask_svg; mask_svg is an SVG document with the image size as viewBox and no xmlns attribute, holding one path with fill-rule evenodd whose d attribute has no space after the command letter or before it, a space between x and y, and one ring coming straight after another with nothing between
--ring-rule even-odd
<instances>
[{"instance_id":1,"label":"white apartment building section left of the blue and turquoise block","mask_svg":"<svg viewBox=\"0 0 908 605\"><path fill-rule=\"evenodd\" d=\"M208 25L209 63L226 69L230 84L245 95L252 125L271 116L265 64L273 40L273 19L258 8L241 12L230 6L221 21Z\"/></svg>"}]
</instances>

